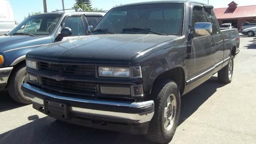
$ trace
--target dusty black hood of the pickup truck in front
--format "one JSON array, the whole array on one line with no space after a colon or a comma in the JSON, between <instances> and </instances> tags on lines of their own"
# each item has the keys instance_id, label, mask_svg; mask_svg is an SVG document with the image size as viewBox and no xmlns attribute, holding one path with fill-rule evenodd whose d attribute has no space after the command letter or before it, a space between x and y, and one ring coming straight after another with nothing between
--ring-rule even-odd
<instances>
[{"instance_id":1,"label":"dusty black hood of the pickup truck in front","mask_svg":"<svg viewBox=\"0 0 256 144\"><path fill-rule=\"evenodd\" d=\"M93 63L129 63L139 52L178 38L148 34L101 34L42 46L27 57L62 61Z\"/></svg>"}]
</instances>

